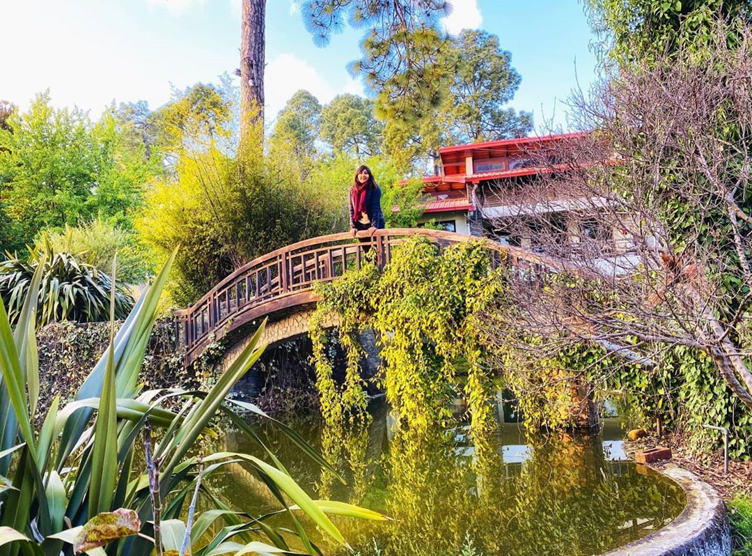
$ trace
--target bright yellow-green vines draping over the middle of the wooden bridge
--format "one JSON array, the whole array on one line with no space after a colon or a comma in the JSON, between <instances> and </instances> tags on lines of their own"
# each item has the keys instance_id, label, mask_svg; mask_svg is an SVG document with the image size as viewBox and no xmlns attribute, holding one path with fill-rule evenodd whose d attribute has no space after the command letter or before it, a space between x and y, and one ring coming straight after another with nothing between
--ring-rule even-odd
<instances>
[{"instance_id":1,"label":"bright yellow-green vines draping over the middle of the wooden bridge","mask_svg":"<svg viewBox=\"0 0 752 556\"><path fill-rule=\"evenodd\" d=\"M495 390L485 364L480 315L502 284L481 242L453 245L442 253L416 237L393 253L381 275L370 263L320 286L323 302L311 318L311 339L326 421L335 424L365 408L356 333L372 327L387 361L387 399L400 420L417 430L447 420L452 388L459 382L457 369L466 369L472 430L488 430ZM323 322L332 313L339 317L338 335L348 354L341 387L332 379L323 333Z\"/></svg>"}]
</instances>

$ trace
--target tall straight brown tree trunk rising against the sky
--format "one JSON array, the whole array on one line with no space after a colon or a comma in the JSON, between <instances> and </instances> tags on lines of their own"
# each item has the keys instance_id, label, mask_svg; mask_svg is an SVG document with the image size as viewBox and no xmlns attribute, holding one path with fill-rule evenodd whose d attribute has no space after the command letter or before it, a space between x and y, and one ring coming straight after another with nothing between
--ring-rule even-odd
<instances>
[{"instance_id":1,"label":"tall straight brown tree trunk rising against the sky","mask_svg":"<svg viewBox=\"0 0 752 556\"><path fill-rule=\"evenodd\" d=\"M264 124L266 0L243 0L240 53L240 143L261 141Z\"/></svg>"}]
</instances>

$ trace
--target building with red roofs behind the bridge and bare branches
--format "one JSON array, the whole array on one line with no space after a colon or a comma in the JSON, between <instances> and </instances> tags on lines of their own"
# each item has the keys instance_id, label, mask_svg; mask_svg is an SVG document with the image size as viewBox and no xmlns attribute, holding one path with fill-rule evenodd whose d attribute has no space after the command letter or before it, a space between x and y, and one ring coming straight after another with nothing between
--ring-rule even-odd
<instances>
[{"instance_id":1,"label":"building with red roofs behind the bridge and bare branches","mask_svg":"<svg viewBox=\"0 0 752 556\"><path fill-rule=\"evenodd\" d=\"M567 196L541 181L556 160L547 156L556 141L572 141L581 134L549 135L459 144L439 150L439 175L426 176L425 212L419 226L431 222L450 232L494 235L511 245L535 248L535 229L541 223L562 241L608 244L624 251L621 230L605 229L597 212L602 198ZM555 184L555 182L553 182ZM514 223L514 226L512 225ZM529 233L525 233L525 229Z\"/></svg>"}]
</instances>

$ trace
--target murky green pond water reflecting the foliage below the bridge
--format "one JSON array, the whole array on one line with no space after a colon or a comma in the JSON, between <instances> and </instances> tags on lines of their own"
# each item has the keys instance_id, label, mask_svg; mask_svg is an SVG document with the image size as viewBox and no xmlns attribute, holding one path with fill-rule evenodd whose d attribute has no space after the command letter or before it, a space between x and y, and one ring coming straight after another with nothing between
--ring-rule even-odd
<instances>
[{"instance_id":1,"label":"murky green pond water reflecting the foliage below the bridge","mask_svg":"<svg viewBox=\"0 0 752 556\"><path fill-rule=\"evenodd\" d=\"M600 554L650 534L684 509L677 485L626 460L615 418L602 420L597 434L537 437L502 423L481 449L462 421L417 433L397 426L384 403L371 417L368 427L338 431L315 418L288 423L336 463L347 486L249 418L312 497L356 503L396 520L334 519L360 556ZM220 445L257 451L232 431ZM278 508L239 466L213 482L233 506L253 515ZM323 554L348 553L313 536Z\"/></svg>"}]
</instances>

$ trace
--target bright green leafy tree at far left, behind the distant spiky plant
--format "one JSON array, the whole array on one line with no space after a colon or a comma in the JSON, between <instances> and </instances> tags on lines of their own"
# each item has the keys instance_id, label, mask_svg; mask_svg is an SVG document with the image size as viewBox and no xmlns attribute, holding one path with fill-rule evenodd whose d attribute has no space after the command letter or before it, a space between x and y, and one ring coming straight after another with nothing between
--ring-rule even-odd
<instances>
[{"instance_id":1,"label":"bright green leafy tree at far left, behind the distant spiky plant","mask_svg":"<svg viewBox=\"0 0 752 556\"><path fill-rule=\"evenodd\" d=\"M77 108L53 108L41 93L0 129L0 193L8 214L5 249L30 245L40 229L94 216L128 226L158 172L141 146L127 144L116 117L99 122Z\"/></svg>"}]
</instances>

